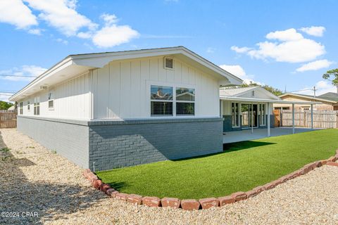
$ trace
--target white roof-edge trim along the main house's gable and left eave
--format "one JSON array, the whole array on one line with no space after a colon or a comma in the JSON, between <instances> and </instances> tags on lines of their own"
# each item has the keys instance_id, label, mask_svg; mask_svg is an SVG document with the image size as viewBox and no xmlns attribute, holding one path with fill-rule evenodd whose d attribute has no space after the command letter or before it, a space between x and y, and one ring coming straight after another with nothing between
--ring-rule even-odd
<instances>
[{"instance_id":1,"label":"white roof-edge trim along the main house's gable and left eave","mask_svg":"<svg viewBox=\"0 0 338 225\"><path fill-rule=\"evenodd\" d=\"M227 72L226 70L223 70L218 65L211 63L211 61L206 60L206 58L199 56L198 54L194 53L193 51L190 51L184 46L174 46L174 47L158 48L158 49L139 49L139 50L129 50L129 51L112 51L112 52L104 52L104 53L83 53L83 54L69 55L63 58L63 60L56 63L55 65L53 65L49 70L46 70L45 72L43 72L42 75L39 75L37 78L33 79L32 82L24 86L23 89L20 89L20 91L13 94L13 96L8 98L8 100L11 101L13 98L20 95L23 91L26 91L27 89L29 89L30 86L38 82L40 79L46 77L46 75L49 75L51 72L53 72L57 68L60 68L62 65L65 65L66 63L72 64L73 63L72 60L78 60L78 59L84 59L84 58L97 58L97 57L105 57L105 56L125 56L125 55L137 54L137 53L154 53L154 52L177 51L177 50L185 51L189 55L194 56L195 58L201 60L202 62L206 63L206 65L210 67L209 69L213 68L213 70L215 72L220 73L220 75L223 75L223 76L227 75L237 80L238 82L243 82L243 80L240 79L239 77L236 77L235 75L232 75L232 73Z\"/></svg>"}]
</instances>

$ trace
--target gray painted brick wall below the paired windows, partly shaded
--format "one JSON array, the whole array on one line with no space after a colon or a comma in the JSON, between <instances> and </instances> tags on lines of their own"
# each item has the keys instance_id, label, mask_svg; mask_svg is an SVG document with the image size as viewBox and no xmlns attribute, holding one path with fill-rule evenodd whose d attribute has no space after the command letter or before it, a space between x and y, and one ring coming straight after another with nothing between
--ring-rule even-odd
<instances>
[{"instance_id":1,"label":"gray painted brick wall below the paired windows, partly shaded","mask_svg":"<svg viewBox=\"0 0 338 225\"><path fill-rule=\"evenodd\" d=\"M223 150L222 119L133 120L89 125L96 170L175 160Z\"/></svg>"}]
</instances>

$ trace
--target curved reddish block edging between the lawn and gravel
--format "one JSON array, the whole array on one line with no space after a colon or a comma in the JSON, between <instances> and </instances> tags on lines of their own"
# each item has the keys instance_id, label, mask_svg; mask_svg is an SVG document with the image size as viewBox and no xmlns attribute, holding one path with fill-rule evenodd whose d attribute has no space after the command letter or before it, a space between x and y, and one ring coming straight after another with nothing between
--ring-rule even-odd
<instances>
[{"instance_id":1,"label":"curved reddish block edging between the lawn and gravel","mask_svg":"<svg viewBox=\"0 0 338 225\"><path fill-rule=\"evenodd\" d=\"M100 190L111 198L115 198L118 200L123 200L127 203L132 203L134 205L146 205L149 207L173 207L173 208L182 208L182 210L201 210L201 209L208 209L210 207L221 207L223 205L235 203L241 200L246 200L247 198L252 198L262 191L268 191L276 186L296 178L297 176L301 176L303 174L307 174L311 170L321 167L323 165L330 165L338 167L338 150L336 150L336 155L330 157L327 160L319 160L316 162L311 162L301 169L298 169L291 174L287 174L285 176L280 177L275 181L271 181L268 184L263 186L258 186L253 188L251 191L238 191L236 193L232 193L231 195L219 197L219 198L202 198L200 200L196 199L184 199L180 200L178 198L158 198L158 197L151 197L137 195L137 194L127 194L127 193L120 193L116 191L114 188L111 188L109 184L104 184L90 169L84 169L83 175L86 179L91 182L92 186L97 190Z\"/></svg>"}]
</instances>

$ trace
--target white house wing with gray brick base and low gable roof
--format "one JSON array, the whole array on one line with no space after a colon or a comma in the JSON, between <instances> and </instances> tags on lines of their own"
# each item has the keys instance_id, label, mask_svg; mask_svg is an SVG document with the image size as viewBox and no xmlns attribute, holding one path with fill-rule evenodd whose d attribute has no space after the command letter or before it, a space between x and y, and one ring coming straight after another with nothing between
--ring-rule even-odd
<instances>
[{"instance_id":1,"label":"white house wing with gray brick base and low gable roof","mask_svg":"<svg viewBox=\"0 0 338 225\"><path fill-rule=\"evenodd\" d=\"M222 151L230 84L242 79L178 46L71 55L10 101L18 131L103 170Z\"/></svg>"}]
</instances>

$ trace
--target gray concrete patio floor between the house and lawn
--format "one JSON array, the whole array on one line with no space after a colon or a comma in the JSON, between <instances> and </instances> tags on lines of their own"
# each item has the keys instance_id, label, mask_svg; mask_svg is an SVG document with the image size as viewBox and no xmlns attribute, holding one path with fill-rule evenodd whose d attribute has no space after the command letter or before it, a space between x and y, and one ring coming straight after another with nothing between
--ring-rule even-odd
<instances>
[{"instance_id":1,"label":"gray concrete patio floor between the house and lawn","mask_svg":"<svg viewBox=\"0 0 338 225\"><path fill-rule=\"evenodd\" d=\"M303 127L275 127L270 129L270 136L281 136L287 134L298 134L316 129ZM263 139L267 137L268 129L243 129L242 131L228 131L223 133L223 143L234 143L239 141L249 141Z\"/></svg>"}]
</instances>

